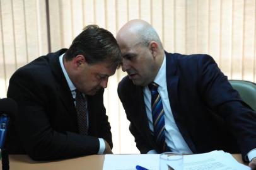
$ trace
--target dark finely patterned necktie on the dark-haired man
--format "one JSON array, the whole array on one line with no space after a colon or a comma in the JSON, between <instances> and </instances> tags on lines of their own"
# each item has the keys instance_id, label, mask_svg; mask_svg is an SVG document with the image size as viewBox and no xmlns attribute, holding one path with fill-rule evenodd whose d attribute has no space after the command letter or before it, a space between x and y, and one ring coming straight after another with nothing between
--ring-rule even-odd
<instances>
[{"instance_id":1,"label":"dark finely patterned necktie on the dark-haired man","mask_svg":"<svg viewBox=\"0 0 256 170\"><path fill-rule=\"evenodd\" d=\"M88 135L86 100L83 94L76 89L76 113L78 115L78 130L81 135Z\"/></svg>"}]
</instances>

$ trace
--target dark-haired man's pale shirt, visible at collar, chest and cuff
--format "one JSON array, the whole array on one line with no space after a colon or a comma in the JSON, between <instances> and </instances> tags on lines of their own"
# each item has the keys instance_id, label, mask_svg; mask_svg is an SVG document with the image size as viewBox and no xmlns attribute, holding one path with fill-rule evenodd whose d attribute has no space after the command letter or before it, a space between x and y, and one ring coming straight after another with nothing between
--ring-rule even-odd
<instances>
[{"instance_id":1,"label":"dark-haired man's pale shirt, visible at collar, chest and cuff","mask_svg":"<svg viewBox=\"0 0 256 170\"><path fill-rule=\"evenodd\" d=\"M65 53L64 53L65 54ZM69 79L69 76L67 75L67 71L64 67L64 64L63 64L63 56L64 54L62 54L60 57L59 57L59 63L61 64L61 69L62 69L62 72L66 78L66 81L67 81L67 84L69 85L69 89L72 93L72 96L74 98L74 105L76 105L76 87L74 86L73 82L71 81L71 79ZM83 94L84 98L86 99L86 95ZM87 125L89 126L89 115L88 115L88 107L87 107L87 99L86 99L86 116L87 116ZM98 138L98 140L100 141L100 149L98 150L98 154L103 154L104 150L105 150L105 142L102 138Z\"/></svg>"}]
</instances>

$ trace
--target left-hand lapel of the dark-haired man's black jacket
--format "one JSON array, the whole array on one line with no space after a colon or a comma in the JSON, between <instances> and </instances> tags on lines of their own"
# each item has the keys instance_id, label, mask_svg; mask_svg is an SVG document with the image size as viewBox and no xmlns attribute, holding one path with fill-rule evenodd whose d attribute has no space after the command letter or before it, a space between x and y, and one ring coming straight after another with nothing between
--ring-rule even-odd
<instances>
[{"instance_id":1,"label":"left-hand lapel of the dark-haired man's black jacket","mask_svg":"<svg viewBox=\"0 0 256 170\"><path fill-rule=\"evenodd\" d=\"M61 64L59 63L59 56L66 52L66 49L59 50L55 53L48 54L50 60L50 66L56 79L56 91L61 98L62 103L66 107L68 113L71 115L77 124L76 108L74 107L73 96L67 84L66 78L62 72Z\"/></svg>"}]
</instances>

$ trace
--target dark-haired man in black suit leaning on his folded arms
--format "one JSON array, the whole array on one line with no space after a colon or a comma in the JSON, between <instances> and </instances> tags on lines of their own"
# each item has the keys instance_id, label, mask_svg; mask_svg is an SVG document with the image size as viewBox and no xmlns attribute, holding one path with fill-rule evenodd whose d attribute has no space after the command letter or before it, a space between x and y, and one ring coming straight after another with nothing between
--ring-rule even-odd
<instances>
[{"instance_id":1,"label":"dark-haired man in black suit leaning on his folded arms","mask_svg":"<svg viewBox=\"0 0 256 170\"><path fill-rule=\"evenodd\" d=\"M8 88L19 106L9 130L9 153L38 161L111 154L103 88L121 62L112 33L90 25L69 49L18 69Z\"/></svg>"}]
</instances>

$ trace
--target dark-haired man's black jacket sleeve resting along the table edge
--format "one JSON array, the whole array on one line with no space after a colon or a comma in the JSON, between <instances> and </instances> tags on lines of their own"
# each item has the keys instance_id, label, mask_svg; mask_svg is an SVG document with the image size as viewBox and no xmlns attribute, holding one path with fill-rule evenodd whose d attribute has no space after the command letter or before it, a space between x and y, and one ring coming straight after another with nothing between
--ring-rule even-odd
<instances>
[{"instance_id":1,"label":"dark-haired man's black jacket sleeve resting along the table edge","mask_svg":"<svg viewBox=\"0 0 256 170\"><path fill-rule=\"evenodd\" d=\"M8 97L15 99L19 106L16 130L28 156L47 161L96 154L99 149L97 137L54 130L53 115L49 113L49 96L54 93L45 94L43 88L39 77L24 71L16 72L9 81Z\"/></svg>"}]
</instances>

